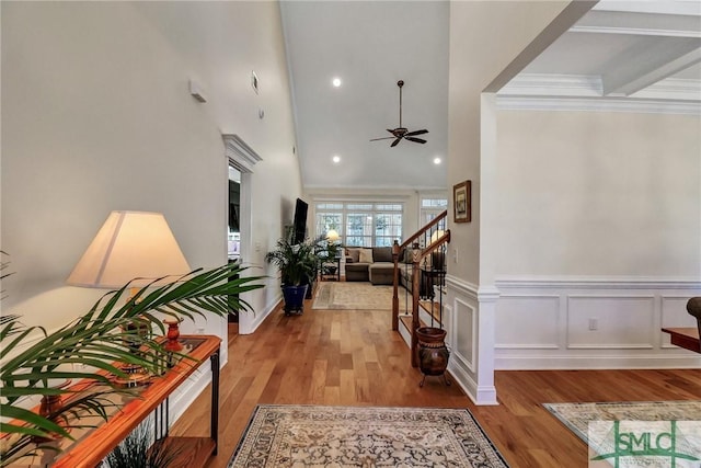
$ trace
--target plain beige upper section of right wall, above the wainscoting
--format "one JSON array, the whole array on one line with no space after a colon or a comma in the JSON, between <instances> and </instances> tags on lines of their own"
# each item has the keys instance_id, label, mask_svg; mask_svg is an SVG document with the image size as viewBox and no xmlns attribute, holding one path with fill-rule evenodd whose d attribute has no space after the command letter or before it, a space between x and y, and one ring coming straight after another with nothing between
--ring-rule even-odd
<instances>
[{"instance_id":1,"label":"plain beige upper section of right wall, above the wainscoting","mask_svg":"<svg viewBox=\"0 0 701 468\"><path fill-rule=\"evenodd\" d=\"M701 276L701 117L502 111L497 126L499 275Z\"/></svg>"}]
</instances>

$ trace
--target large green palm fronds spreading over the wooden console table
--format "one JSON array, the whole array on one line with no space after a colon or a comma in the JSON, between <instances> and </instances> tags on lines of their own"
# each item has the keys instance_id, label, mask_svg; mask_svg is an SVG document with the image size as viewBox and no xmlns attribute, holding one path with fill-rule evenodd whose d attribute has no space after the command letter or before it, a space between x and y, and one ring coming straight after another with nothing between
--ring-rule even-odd
<instances>
[{"instance_id":1,"label":"large green palm fronds spreading over the wooden console table","mask_svg":"<svg viewBox=\"0 0 701 468\"><path fill-rule=\"evenodd\" d=\"M2 263L2 269L7 263ZM125 373L113 362L143 367L152 375L160 375L168 366L168 351L160 340L165 334L162 316L175 318L226 317L230 308L251 310L239 294L263 287L260 276L241 276L245 270L237 264L209 271L194 271L180 281L157 286L158 279L137 290L126 304L124 297L129 284L119 290L107 293L83 316L47 333L42 327L26 327L21 317L0 317L0 383L2 397L0 413L0 466L4 467L24 456L41 440L71 437L71 427L87 424L83 416L70 418L77 411L85 415L107 419L105 409L115 406L113 393L129 392L114 379L99 370L115 376ZM7 276L5 274L0 277ZM160 313L156 313L160 312ZM148 324L150 333L137 334L127 330L135 319ZM160 334L159 334L160 333ZM28 346L26 340L38 334ZM134 353L134 340L138 340L139 353ZM187 357L187 356L184 356ZM71 370L62 365L73 364ZM65 404L37 414L23 408L22 399L37 396L60 398L70 389L53 386L51 381L89 379L100 390L72 395ZM92 387L89 387L92 388Z\"/></svg>"}]
</instances>

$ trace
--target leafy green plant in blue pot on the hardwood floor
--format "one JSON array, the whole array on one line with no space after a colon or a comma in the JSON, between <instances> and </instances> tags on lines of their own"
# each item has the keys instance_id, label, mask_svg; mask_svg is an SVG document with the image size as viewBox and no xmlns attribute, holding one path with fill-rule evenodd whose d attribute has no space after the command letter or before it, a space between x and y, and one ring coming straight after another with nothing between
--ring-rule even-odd
<instances>
[{"instance_id":1,"label":"leafy green plant in blue pot on the hardwood floor","mask_svg":"<svg viewBox=\"0 0 701 468\"><path fill-rule=\"evenodd\" d=\"M307 290L317 276L320 265L319 252L322 238L292 243L294 230L287 229L278 239L275 249L265 255L265 261L280 272L285 315L304 310Z\"/></svg>"}]
</instances>

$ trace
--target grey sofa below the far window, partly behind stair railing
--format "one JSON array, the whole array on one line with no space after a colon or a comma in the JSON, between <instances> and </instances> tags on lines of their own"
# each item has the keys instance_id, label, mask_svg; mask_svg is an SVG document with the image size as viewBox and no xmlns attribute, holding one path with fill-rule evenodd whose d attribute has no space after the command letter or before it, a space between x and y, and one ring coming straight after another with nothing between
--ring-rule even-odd
<instances>
[{"instance_id":1,"label":"grey sofa below the far window, partly behind stair railing","mask_svg":"<svg viewBox=\"0 0 701 468\"><path fill-rule=\"evenodd\" d=\"M394 284L394 261L391 247L347 247L345 252L346 281L370 282L374 285ZM406 249L399 254L399 283L409 293L412 292L412 251ZM420 295L427 295L426 282L420 277Z\"/></svg>"}]
</instances>

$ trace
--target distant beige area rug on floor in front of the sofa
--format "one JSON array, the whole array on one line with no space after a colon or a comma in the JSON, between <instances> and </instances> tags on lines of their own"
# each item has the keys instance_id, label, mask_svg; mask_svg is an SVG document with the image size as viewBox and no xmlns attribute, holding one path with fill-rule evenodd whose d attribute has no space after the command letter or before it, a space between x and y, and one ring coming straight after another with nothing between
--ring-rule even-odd
<instances>
[{"instance_id":1,"label":"distant beige area rug on floor in front of the sofa","mask_svg":"<svg viewBox=\"0 0 701 468\"><path fill-rule=\"evenodd\" d=\"M405 307L402 306L400 298L400 310L405 310ZM322 282L319 284L311 308L392 310L392 286L374 286L370 283Z\"/></svg>"}]
</instances>

